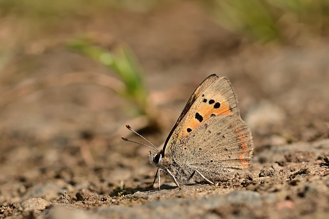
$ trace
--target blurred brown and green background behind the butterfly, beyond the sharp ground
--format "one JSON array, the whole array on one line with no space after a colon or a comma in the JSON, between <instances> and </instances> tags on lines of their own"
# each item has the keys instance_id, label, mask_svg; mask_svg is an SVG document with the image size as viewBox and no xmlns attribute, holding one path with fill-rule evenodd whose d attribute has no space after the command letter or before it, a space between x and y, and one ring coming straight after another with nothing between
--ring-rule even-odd
<instances>
[{"instance_id":1,"label":"blurred brown and green background behind the butterfly, beyond the sharp ground","mask_svg":"<svg viewBox=\"0 0 329 219\"><path fill-rule=\"evenodd\" d=\"M327 138L328 25L326 0L0 0L0 204L54 179L99 193L152 181L124 125L160 145L213 73L255 154Z\"/></svg>"}]
</instances>

